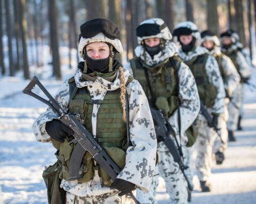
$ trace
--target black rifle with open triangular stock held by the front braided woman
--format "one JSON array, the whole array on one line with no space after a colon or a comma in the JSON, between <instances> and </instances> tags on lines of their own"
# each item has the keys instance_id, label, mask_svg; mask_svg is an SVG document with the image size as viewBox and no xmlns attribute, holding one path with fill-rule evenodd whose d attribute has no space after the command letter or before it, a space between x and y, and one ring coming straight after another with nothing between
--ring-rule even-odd
<instances>
[{"instance_id":1,"label":"black rifle with open triangular stock held by the front braided woman","mask_svg":"<svg viewBox=\"0 0 256 204\"><path fill-rule=\"evenodd\" d=\"M49 100L36 95L31 90L37 85L47 96ZM33 96L34 98L42 101L48 105L52 111L58 116L63 124L67 125L74 131L73 139L69 141L69 144L76 144L70 158L69 168L69 180L81 179L82 174L82 160L86 151L89 151L95 162L97 162L101 168L108 174L109 177L114 181L117 175L121 172L116 163L109 157L107 152L94 140L93 136L84 128L79 122L77 115L67 114L60 107L58 102L50 95L50 93L44 88L38 78L35 76L31 79L29 84L22 91L24 94ZM135 203L140 202L133 196L132 193L128 193L127 196L131 197Z\"/></svg>"}]
</instances>

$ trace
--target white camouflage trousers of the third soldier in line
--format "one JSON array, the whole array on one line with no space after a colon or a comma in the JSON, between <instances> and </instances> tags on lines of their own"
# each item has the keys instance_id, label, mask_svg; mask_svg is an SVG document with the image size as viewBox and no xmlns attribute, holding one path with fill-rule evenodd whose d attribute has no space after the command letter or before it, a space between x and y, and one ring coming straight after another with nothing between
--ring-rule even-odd
<instances>
[{"instance_id":1,"label":"white camouflage trousers of the third soldier in line","mask_svg":"<svg viewBox=\"0 0 256 204\"><path fill-rule=\"evenodd\" d=\"M202 114L198 115L196 127L198 138L194 145L196 155L196 174L200 181L207 181L211 176L212 149L217 133L207 125L207 121Z\"/></svg>"}]
</instances>

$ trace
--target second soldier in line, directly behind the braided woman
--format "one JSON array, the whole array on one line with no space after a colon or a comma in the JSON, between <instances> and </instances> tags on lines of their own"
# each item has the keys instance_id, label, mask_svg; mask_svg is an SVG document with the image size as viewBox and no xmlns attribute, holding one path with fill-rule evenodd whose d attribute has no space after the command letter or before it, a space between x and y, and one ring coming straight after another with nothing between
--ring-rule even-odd
<instances>
[{"instance_id":1,"label":"second soldier in line, directly behind the braided woman","mask_svg":"<svg viewBox=\"0 0 256 204\"><path fill-rule=\"evenodd\" d=\"M199 112L195 79L189 67L177 56L178 48L171 42L171 32L162 19L147 19L140 23L136 32L136 56L125 67L140 82L150 105L160 109L171 124L182 154L188 143L185 131ZM164 178L170 196L168 203L187 203L187 182L163 141L158 142L157 152L159 174ZM156 177L150 193L137 191L141 203L157 203L157 180Z\"/></svg>"}]
</instances>

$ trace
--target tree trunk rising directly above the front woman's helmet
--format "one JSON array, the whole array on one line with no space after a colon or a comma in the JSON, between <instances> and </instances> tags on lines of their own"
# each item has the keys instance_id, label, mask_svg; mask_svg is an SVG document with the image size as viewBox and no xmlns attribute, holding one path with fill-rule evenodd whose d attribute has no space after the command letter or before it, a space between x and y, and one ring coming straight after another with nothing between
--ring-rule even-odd
<instances>
[{"instance_id":1,"label":"tree trunk rising directly above the front woman's helmet","mask_svg":"<svg viewBox=\"0 0 256 204\"><path fill-rule=\"evenodd\" d=\"M107 18L107 0L87 0L87 19Z\"/></svg>"}]
</instances>

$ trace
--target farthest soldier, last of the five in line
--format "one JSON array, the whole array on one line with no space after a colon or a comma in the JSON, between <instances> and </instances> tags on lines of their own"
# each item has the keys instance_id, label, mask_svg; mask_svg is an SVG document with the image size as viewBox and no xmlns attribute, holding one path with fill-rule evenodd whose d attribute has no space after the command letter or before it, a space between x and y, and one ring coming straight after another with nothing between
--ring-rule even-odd
<instances>
[{"instance_id":1,"label":"farthest soldier, last of the five in line","mask_svg":"<svg viewBox=\"0 0 256 204\"><path fill-rule=\"evenodd\" d=\"M236 32L229 29L226 32L222 32L221 35L221 52L226 54L231 58L234 63L236 70L241 77L241 83L237 86L234 94L232 96L232 101L234 104L229 103L228 112L229 120L227 123L228 128L228 138L229 141L236 141L234 131L240 129L241 119L242 119L242 108L243 108L243 84L247 83L250 78L251 70L250 66L246 62L244 55L241 52L241 48L237 45L239 39ZM240 112L240 117L239 117Z\"/></svg>"}]
</instances>

